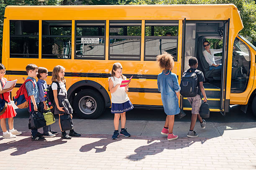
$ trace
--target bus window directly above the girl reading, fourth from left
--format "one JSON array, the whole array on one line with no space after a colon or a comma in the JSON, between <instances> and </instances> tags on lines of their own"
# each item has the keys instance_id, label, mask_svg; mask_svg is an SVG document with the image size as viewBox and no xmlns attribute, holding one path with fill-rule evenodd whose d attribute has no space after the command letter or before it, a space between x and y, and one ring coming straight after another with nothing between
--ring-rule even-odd
<instances>
[{"instance_id":1,"label":"bus window directly above the girl reading, fourth from left","mask_svg":"<svg viewBox=\"0 0 256 170\"><path fill-rule=\"evenodd\" d=\"M109 59L141 59L141 20L110 20Z\"/></svg>"}]
</instances>

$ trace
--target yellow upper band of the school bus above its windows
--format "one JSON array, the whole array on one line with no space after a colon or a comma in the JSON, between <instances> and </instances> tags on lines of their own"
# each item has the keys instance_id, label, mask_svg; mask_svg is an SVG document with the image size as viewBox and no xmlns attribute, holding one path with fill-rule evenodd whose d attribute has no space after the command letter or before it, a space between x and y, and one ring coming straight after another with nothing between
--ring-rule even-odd
<instances>
[{"instance_id":1,"label":"yellow upper band of the school bus above its windows","mask_svg":"<svg viewBox=\"0 0 256 170\"><path fill-rule=\"evenodd\" d=\"M241 22L238 9L233 4L7 6L5 17L10 20L182 20L184 18L187 20L230 18L231 20L233 18Z\"/></svg>"}]
</instances>

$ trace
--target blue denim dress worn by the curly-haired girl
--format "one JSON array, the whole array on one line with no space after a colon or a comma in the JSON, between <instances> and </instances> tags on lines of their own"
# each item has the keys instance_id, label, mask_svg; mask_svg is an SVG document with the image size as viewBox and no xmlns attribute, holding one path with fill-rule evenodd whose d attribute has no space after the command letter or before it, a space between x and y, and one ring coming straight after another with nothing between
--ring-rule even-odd
<instances>
[{"instance_id":1,"label":"blue denim dress worn by the curly-haired girl","mask_svg":"<svg viewBox=\"0 0 256 170\"><path fill-rule=\"evenodd\" d=\"M158 90L161 92L161 99L164 106L164 112L166 115L179 114L179 100L176 92L180 91L177 75L169 70L163 70L157 76ZM168 75L166 75L168 74Z\"/></svg>"}]
</instances>

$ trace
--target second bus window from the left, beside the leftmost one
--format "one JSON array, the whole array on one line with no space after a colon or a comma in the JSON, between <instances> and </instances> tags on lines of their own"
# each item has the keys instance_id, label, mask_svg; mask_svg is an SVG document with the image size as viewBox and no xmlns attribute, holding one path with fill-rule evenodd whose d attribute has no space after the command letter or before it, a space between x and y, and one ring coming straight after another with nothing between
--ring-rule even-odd
<instances>
[{"instance_id":1,"label":"second bus window from the left, beside the leftmost one","mask_svg":"<svg viewBox=\"0 0 256 170\"><path fill-rule=\"evenodd\" d=\"M42 58L71 59L72 21L42 22Z\"/></svg>"}]
</instances>

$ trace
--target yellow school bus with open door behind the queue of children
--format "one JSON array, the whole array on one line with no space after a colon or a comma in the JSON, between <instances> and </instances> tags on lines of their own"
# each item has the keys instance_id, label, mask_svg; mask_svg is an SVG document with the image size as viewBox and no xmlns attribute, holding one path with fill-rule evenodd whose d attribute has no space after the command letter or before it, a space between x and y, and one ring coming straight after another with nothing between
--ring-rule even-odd
<instances>
[{"instance_id":1,"label":"yellow school bus with open door behind the queue of children","mask_svg":"<svg viewBox=\"0 0 256 170\"><path fill-rule=\"evenodd\" d=\"M113 63L123 65L126 77L133 75L128 96L135 107L162 109L156 55L166 51L174 56L172 72L179 82L194 56L205 75L210 111L225 115L231 104L246 111L252 102L256 114L256 47L238 35L242 29L233 4L8 6L2 62L8 80L18 79L13 96L27 76L26 65L46 67L48 84L54 66L64 66L75 113L92 119L111 105ZM209 39L222 42L222 53L215 57L221 70L210 70L202 54L203 41ZM180 108L191 110L186 97Z\"/></svg>"}]
</instances>

